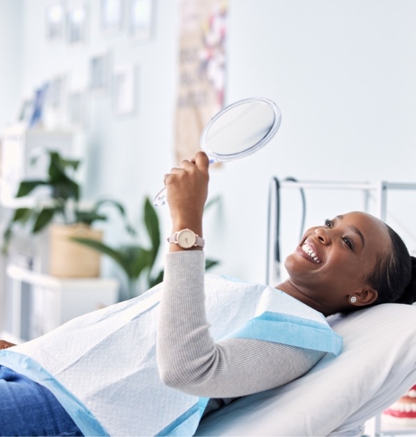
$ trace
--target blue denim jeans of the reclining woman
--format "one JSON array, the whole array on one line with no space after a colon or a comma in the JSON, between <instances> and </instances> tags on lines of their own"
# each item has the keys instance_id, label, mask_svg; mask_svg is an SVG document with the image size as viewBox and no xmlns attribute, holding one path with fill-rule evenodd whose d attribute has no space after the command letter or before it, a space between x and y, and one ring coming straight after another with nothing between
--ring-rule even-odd
<instances>
[{"instance_id":1,"label":"blue denim jeans of the reclining woman","mask_svg":"<svg viewBox=\"0 0 416 437\"><path fill-rule=\"evenodd\" d=\"M44 386L0 366L1 436L83 436Z\"/></svg>"}]
</instances>

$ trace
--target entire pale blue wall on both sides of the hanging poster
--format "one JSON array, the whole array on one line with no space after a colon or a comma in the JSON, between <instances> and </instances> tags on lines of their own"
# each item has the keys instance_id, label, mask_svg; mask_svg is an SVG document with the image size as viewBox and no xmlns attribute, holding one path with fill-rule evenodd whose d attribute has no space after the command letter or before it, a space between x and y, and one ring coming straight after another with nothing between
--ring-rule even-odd
<instances>
[{"instance_id":1,"label":"entire pale blue wall on both sides of the hanging poster","mask_svg":"<svg viewBox=\"0 0 416 437\"><path fill-rule=\"evenodd\" d=\"M22 95L62 71L74 83L86 80L89 57L106 49L114 65L139 66L135 115L114 116L108 96L92 101L85 189L89 198L112 194L123 200L138 220L143 196L161 188L174 164L178 0L157 0L156 36L144 44L130 42L125 32L101 33L99 1L91 0L92 28L83 47L45 41L48 3L23 3ZM205 223L207 255L222 261L216 272L264 280L271 175L416 182L415 16L413 0L230 0L227 102L266 96L279 105L283 120L257 155L211 172L210 193L223 197ZM307 196L309 225L362 206L360 194ZM389 198L392 211L416 234L415 199ZM298 203L294 191L282 194L286 255L298 239ZM167 236L166 208L160 216ZM126 241L119 228L107 227L107 241ZM413 237L403 235L410 249L416 247ZM105 262L105 275L114 273Z\"/></svg>"}]
</instances>

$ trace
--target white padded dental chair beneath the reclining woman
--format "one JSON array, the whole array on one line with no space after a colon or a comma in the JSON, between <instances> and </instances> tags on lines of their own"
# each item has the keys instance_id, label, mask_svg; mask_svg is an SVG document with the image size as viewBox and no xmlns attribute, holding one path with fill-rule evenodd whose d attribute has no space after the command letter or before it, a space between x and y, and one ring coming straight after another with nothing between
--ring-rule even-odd
<instances>
[{"instance_id":1,"label":"white padded dental chair beneath the reclining woman","mask_svg":"<svg viewBox=\"0 0 416 437\"><path fill-rule=\"evenodd\" d=\"M361 436L416 383L416 307L383 304L328 321L344 339L338 357L210 413L195 435Z\"/></svg>"}]
</instances>

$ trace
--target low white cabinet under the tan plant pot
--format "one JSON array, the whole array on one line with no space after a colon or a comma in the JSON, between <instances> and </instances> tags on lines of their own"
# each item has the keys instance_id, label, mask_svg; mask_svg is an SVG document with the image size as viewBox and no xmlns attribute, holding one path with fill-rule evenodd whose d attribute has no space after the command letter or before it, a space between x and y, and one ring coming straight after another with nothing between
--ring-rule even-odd
<instances>
[{"instance_id":1,"label":"low white cabinet under the tan plant pot","mask_svg":"<svg viewBox=\"0 0 416 437\"><path fill-rule=\"evenodd\" d=\"M119 282L113 278L60 279L14 265L6 274L12 282L6 331L18 339L35 339L119 299Z\"/></svg>"}]
</instances>

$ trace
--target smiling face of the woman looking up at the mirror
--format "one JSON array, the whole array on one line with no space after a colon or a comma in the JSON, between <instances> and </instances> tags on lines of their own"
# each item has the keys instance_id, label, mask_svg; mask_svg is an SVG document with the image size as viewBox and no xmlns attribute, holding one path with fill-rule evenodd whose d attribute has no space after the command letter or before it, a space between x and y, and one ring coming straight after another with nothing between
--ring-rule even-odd
<instances>
[{"instance_id":1,"label":"smiling face of the woman looking up at the mirror","mask_svg":"<svg viewBox=\"0 0 416 437\"><path fill-rule=\"evenodd\" d=\"M370 305L377 293L365 278L390 246L386 226L370 214L349 212L327 219L307 230L286 258L288 285L300 293L295 297L325 315L352 309L353 295L355 306Z\"/></svg>"}]
</instances>

